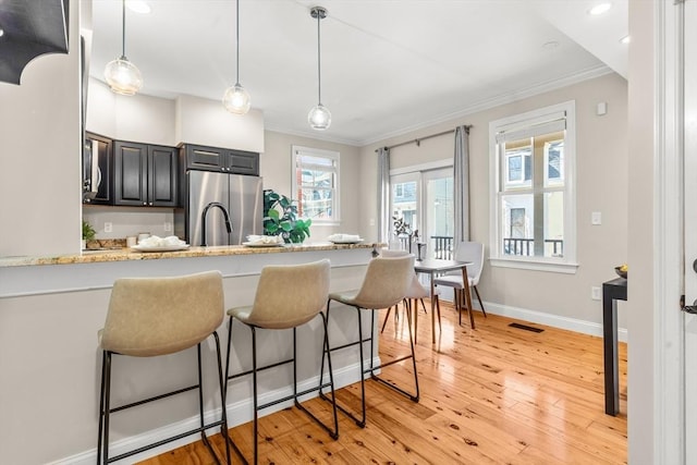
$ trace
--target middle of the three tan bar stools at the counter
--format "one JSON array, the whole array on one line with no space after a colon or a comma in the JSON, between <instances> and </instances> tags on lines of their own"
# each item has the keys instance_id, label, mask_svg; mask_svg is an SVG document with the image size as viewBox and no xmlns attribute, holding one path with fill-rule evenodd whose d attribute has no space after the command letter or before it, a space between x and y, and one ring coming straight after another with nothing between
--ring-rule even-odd
<instances>
[{"instance_id":1,"label":"middle of the three tan bar stools at the counter","mask_svg":"<svg viewBox=\"0 0 697 465\"><path fill-rule=\"evenodd\" d=\"M228 332L228 358L225 362L225 379L232 380L252 374L252 382L254 390L254 463L258 461L258 413L259 411L278 405L282 402L294 400L295 406L305 412L313 420L321 426L332 439L339 438L339 418L337 417L337 403L334 400L334 378L331 368L331 359L329 359L329 383L322 384L320 375L319 384L302 392L297 392L297 344L296 329L298 326L314 319L318 314L322 317L322 326L325 329L322 340L322 353L329 347L327 339L327 318L322 310L327 304L329 294L330 267L329 260L320 260L306 265L277 265L267 266L261 269L259 284L257 285L254 304L246 307L236 307L228 310L230 316L230 327ZM230 375L230 350L232 345L232 323L234 320L245 323L252 330L252 370ZM264 367L257 367L257 329L293 329L293 358L273 363ZM320 372L325 368L322 365ZM268 368L278 367L280 365L293 363L293 394L283 399L277 399L272 402L258 405L257 392L257 372ZM315 391L321 391L322 388L331 389L334 425L333 430L319 420L311 412L305 408L299 402L298 396ZM232 438L227 435L228 441L234 448L235 452L244 460L244 455L240 448L234 443ZM246 460L245 460L246 462Z\"/></svg>"}]
</instances>

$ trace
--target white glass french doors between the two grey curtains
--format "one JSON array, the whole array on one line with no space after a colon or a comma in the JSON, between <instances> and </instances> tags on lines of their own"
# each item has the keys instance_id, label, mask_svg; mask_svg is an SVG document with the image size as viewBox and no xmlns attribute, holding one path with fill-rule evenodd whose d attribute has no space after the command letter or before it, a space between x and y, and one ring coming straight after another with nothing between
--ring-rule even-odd
<instances>
[{"instance_id":1,"label":"white glass french doors between the two grey curtains","mask_svg":"<svg viewBox=\"0 0 697 465\"><path fill-rule=\"evenodd\" d=\"M418 230L417 241L426 244L423 258L447 258L452 253L454 228L452 167L404 170L391 175L391 217ZM394 237L394 220L391 237L394 245L408 248L408 237ZM417 253L416 246L412 252Z\"/></svg>"}]
</instances>

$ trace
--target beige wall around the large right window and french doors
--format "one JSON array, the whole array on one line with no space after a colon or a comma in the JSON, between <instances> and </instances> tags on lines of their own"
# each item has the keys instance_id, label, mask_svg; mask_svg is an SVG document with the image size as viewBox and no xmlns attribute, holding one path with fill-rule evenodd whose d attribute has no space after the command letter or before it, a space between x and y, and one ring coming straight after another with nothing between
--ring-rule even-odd
<instances>
[{"instance_id":1,"label":"beige wall around the large right window and french doors","mask_svg":"<svg viewBox=\"0 0 697 465\"><path fill-rule=\"evenodd\" d=\"M590 323L600 333L601 303L590 298L590 287L616 278L613 268L627 261L627 84L616 75L549 91L388 140L362 151L362 234L376 236L366 219L376 215L375 148L473 124L470 150L470 235L489 246L489 122L537 108L576 101L577 238L579 267L575 274L560 274L485 265L479 291L482 298L500 308L518 308L552 315L558 322ZM596 115L598 102L608 103L608 113ZM444 135L391 150L391 168L404 168L452 158L454 136ZM592 211L602 213L602 224L591 225ZM530 292L531 289L545 292ZM626 328L626 305L620 303L620 327ZM566 321L570 322L570 321Z\"/></svg>"}]
</instances>

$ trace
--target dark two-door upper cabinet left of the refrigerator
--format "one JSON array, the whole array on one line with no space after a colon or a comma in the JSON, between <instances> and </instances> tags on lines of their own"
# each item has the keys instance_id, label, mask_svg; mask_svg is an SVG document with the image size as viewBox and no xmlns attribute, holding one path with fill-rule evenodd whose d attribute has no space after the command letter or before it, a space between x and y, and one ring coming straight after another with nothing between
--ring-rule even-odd
<instances>
[{"instance_id":1,"label":"dark two-door upper cabinet left of the refrigerator","mask_svg":"<svg viewBox=\"0 0 697 465\"><path fill-rule=\"evenodd\" d=\"M114 205L176 207L178 192L176 148L114 143Z\"/></svg>"}]
</instances>

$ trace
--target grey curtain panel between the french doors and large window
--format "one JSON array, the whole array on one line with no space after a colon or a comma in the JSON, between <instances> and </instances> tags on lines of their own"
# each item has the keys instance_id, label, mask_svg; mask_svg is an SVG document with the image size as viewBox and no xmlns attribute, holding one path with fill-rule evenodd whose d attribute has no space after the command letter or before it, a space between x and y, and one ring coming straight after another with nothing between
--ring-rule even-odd
<instances>
[{"instance_id":1,"label":"grey curtain panel between the french doors and large window","mask_svg":"<svg viewBox=\"0 0 697 465\"><path fill-rule=\"evenodd\" d=\"M453 188L455 230L454 244L469 241L469 127L455 127L455 157L453 160Z\"/></svg>"}]
</instances>

